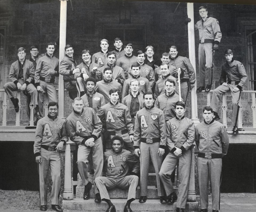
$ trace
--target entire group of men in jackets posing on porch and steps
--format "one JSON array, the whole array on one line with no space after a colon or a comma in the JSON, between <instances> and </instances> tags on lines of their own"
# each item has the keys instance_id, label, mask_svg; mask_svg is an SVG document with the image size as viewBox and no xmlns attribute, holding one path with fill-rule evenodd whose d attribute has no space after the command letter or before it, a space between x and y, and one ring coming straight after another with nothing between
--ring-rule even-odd
<instances>
[{"instance_id":1,"label":"entire group of men in jackets posing on porch and steps","mask_svg":"<svg viewBox=\"0 0 256 212\"><path fill-rule=\"evenodd\" d=\"M208 92L212 83L213 50L218 50L221 32L217 19L207 16L205 7L199 8L199 14L202 19L195 25L200 35L200 86L197 92L205 89L205 71L209 69L210 79L205 89ZM205 35L206 31L210 34L208 37ZM147 46L145 52L138 51L136 57L131 43L126 44L124 49L122 45L122 40L116 38L115 49L108 51L109 42L102 39L101 51L91 57L89 50L83 50L83 62L80 64L74 59L73 47L66 45L65 57L60 65L59 60L53 56L53 43L47 44L44 55L38 54L37 46L31 46L29 60L25 58L26 50L23 47L18 49L19 59L10 68L11 82L7 82L4 88L16 112L19 111L19 100L14 98L11 91L23 91L27 96L27 103L30 104L31 101L34 105L35 117L39 119L34 154L39 166L40 210L47 210L46 179L50 166L53 180L52 208L62 211L58 203L58 151L62 150L69 137L78 145L77 165L85 186L83 198L90 198L90 163L96 185L95 202L106 201L109 205L106 211L110 212L116 209L106 189L129 188L124 211L132 211L130 203L135 199L139 177L139 202L146 202L150 157L156 173L160 202L172 204L177 200L177 211L184 211L190 178L191 146L195 141L199 150L197 165L200 211L207 212L209 179L213 211L218 211L221 161L227 154L229 145L225 127L215 121L219 119L219 95L231 91L233 133L238 133L238 101L247 78L243 64L233 59L231 49L225 51L226 62L222 65L221 85L213 91L212 107L203 108L204 120L194 126L193 121L184 115L188 93L196 81L189 59L178 55L176 46L171 46L168 53L163 53L161 62L158 62L153 58L152 46ZM179 68L181 80L177 82ZM65 89L73 99L73 112L66 120L57 116L54 81L59 74L63 75ZM182 101L179 101L178 83ZM50 101L48 115L42 117L46 93ZM171 174L178 162L177 196Z\"/></svg>"}]
</instances>

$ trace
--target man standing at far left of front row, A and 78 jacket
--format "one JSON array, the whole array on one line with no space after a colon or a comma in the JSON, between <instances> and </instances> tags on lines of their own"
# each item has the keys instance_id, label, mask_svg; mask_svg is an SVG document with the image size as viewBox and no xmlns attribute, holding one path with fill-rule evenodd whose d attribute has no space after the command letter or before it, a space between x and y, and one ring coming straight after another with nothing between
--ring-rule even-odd
<instances>
[{"instance_id":1,"label":"man standing at far left of front row, A and 78 jacket","mask_svg":"<svg viewBox=\"0 0 256 212\"><path fill-rule=\"evenodd\" d=\"M68 141L65 131L65 119L59 118L58 103L49 102L48 115L39 119L35 131L34 154L35 161L39 166L40 184L40 210L47 210L47 174L51 167L51 178L53 181L51 189L51 207L55 211L62 212L59 206L59 193L61 188L61 159L59 151Z\"/></svg>"}]
</instances>

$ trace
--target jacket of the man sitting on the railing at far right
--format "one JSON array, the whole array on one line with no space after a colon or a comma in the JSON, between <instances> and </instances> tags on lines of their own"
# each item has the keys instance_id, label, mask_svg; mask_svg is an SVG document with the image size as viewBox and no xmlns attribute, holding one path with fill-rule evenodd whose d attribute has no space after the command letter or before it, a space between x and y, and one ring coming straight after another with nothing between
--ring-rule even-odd
<instances>
[{"instance_id":1,"label":"jacket of the man sitting on the railing at far right","mask_svg":"<svg viewBox=\"0 0 256 212\"><path fill-rule=\"evenodd\" d=\"M226 82L226 79L228 83L229 81L234 81L239 90L242 90L247 79L247 74L243 64L233 59L231 63L225 62L221 67L220 84L222 85L223 82Z\"/></svg>"}]
</instances>

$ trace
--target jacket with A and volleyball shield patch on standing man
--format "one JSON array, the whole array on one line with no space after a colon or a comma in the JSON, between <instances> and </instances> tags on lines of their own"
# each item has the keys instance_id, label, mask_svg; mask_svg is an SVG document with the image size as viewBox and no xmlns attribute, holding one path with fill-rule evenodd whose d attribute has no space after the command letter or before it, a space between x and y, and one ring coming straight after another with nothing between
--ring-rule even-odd
<instances>
[{"instance_id":1,"label":"jacket with A and volleyball shield patch on standing man","mask_svg":"<svg viewBox=\"0 0 256 212\"><path fill-rule=\"evenodd\" d=\"M134 125L134 148L138 149L140 142L160 142L160 148L166 145L165 115L162 110L151 106L144 107L136 114Z\"/></svg>"}]
</instances>

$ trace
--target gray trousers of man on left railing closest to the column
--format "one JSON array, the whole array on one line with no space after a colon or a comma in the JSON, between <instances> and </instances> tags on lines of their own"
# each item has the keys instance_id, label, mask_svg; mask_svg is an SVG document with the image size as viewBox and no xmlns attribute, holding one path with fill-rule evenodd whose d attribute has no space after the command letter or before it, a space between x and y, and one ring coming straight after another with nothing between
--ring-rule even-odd
<instances>
[{"instance_id":1,"label":"gray trousers of man on left railing closest to the column","mask_svg":"<svg viewBox=\"0 0 256 212\"><path fill-rule=\"evenodd\" d=\"M57 91L53 83L40 80L40 86L43 91L38 92L38 106L40 113L43 114L43 102L45 101L45 93L47 93L49 97L49 102L57 102Z\"/></svg>"}]
</instances>

